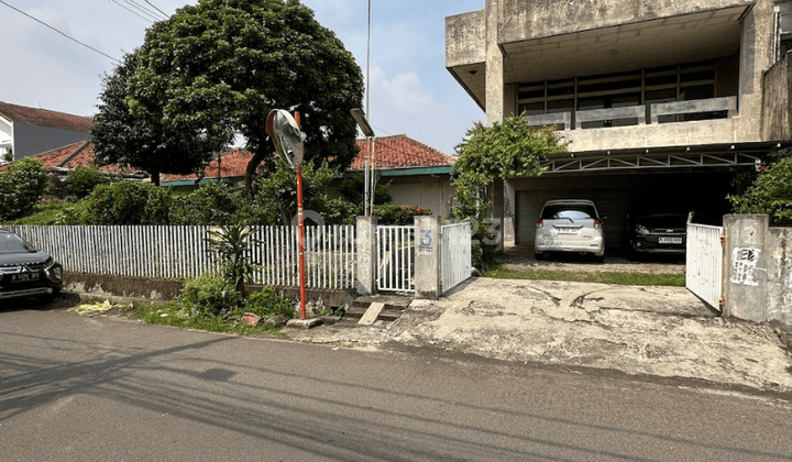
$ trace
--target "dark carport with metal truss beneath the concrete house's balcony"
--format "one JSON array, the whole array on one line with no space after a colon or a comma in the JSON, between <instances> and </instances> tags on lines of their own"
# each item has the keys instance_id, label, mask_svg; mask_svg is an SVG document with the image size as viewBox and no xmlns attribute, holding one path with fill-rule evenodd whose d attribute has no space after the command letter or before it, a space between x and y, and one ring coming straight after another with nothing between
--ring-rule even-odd
<instances>
[{"instance_id":1,"label":"dark carport with metal truss beneath the concrete house's balcony","mask_svg":"<svg viewBox=\"0 0 792 462\"><path fill-rule=\"evenodd\" d=\"M792 143L743 143L566 153L544 163L540 177L504 182L505 245L534 245L542 205L550 199L593 200L605 220L606 248L624 244L627 216L648 207L694 211L696 222L718 222L740 169L751 172ZM496 204L496 208L498 205Z\"/></svg>"}]
</instances>

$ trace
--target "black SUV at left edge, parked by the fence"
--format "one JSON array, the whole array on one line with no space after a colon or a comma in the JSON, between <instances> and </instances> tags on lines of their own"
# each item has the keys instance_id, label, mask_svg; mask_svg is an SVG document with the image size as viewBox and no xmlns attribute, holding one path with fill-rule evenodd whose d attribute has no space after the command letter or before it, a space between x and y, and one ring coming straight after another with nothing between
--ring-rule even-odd
<instances>
[{"instance_id":1,"label":"black SUV at left edge, parked by the fence","mask_svg":"<svg viewBox=\"0 0 792 462\"><path fill-rule=\"evenodd\" d=\"M59 263L11 231L0 229L0 300L19 297L53 299L62 287Z\"/></svg>"}]
</instances>

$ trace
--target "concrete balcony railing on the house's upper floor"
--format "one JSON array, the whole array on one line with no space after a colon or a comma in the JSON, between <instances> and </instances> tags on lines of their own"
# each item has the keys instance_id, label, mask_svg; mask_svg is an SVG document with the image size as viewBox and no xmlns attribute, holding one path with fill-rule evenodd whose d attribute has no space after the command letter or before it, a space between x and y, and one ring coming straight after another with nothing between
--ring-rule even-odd
<instances>
[{"instance_id":1,"label":"concrete balcony railing on the house's upper floor","mask_svg":"<svg viewBox=\"0 0 792 462\"><path fill-rule=\"evenodd\" d=\"M706 114L726 112L727 118L737 114L737 97L698 99L692 101L660 102L649 105L649 123L659 123L659 118ZM550 114L526 116L531 127L563 125L564 131L572 130L572 111L557 112ZM632 119L639 125L647 124L647 107L630 106L626 108L593 109L587 111L575 111L574 130L583 130L586 122L618 121ZM608 125L606 125L608 127Z\"/></svg>"}]
</instances>

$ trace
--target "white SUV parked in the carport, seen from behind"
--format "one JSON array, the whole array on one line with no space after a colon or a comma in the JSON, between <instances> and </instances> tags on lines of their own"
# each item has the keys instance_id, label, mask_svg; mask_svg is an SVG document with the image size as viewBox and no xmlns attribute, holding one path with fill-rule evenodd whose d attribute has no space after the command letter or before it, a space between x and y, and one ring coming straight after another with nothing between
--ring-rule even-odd
<instances>
[{"instance_id":1,"label":"white SUV parked in the carport, seen from behind","mask_svg":"<svg viewBox=\"0 0 792 462\"><path fill-rule=\"evenodd\" d=\"M591 200L548 200L537 221L534 252L541 260L548 252L591 253L605 260L603 220Z\"/></svg>"}]
</instances>

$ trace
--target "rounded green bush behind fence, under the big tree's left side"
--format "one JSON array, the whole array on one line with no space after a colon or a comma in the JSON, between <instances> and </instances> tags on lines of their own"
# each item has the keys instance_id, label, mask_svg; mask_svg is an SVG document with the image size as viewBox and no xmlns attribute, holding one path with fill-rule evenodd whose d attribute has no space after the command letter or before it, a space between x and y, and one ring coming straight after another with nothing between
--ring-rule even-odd
<instances>
[{"instance_id":1,"label":"rounded green bush behind fence, under the big tree's left side","mask_svg":"<svg viewBox=\"0 0 792 462\"><path fill-rule=\"evenodd\" d=\"M168 224L170 194L146 183L116 182L97 186L86 204L67 212L80 224ZM75 223L69 223L75 224Z\"/></svg>"}]
</instances>

